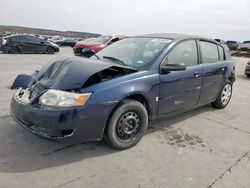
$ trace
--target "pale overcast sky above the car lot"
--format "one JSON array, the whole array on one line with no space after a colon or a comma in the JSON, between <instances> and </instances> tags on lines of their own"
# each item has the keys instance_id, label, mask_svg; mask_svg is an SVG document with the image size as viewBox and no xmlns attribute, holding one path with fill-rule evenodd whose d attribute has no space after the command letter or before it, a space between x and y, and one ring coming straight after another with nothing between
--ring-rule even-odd
<instances>
[{"instance_id":1,"label":"pale overcast sky above the car lot","mask_svg":"<svg viewBox=\"0 0 250 188\"><path fill-rule=\"evenodd\" d=\"M0 0L0 24L250 40L249 0Z\"/></svg>"}]
</instances>

